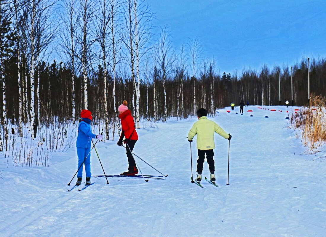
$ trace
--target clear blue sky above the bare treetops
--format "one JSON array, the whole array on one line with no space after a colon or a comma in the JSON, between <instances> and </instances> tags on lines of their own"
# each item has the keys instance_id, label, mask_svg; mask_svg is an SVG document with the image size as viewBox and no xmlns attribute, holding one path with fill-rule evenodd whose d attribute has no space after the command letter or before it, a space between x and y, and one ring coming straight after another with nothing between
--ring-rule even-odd
<instances>
[{"instance_id":1,"label":"clear blue sky above the bare treetops","mask_svg":"<svg viewBox=\"0 0 326 237\"><path fill-rule=\"evenodd\" d=\"M199 37L221 73L326 56L326 0L146 0L173 46ZM159 28L156 29L159 32Z\"/></svg>"}]
</instances>

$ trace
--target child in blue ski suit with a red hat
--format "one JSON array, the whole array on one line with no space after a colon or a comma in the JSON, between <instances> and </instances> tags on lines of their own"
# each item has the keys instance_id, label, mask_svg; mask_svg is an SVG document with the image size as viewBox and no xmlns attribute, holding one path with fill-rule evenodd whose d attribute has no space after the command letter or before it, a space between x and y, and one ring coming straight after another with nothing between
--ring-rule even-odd
<instances>
[{"instance_id":1,"label":"child in blue ski suit with a red hat","mask_svg":"<svg viewBox=\"0 0 326 237\"><path fill-rule=\"evenodd\" d=\"M92 122L92 113L87 109L83 109L81 112L82 120L78 125L78 136L77 136L77 156L78 156L78 173L77 173L77 182L76 185L82 183L82 168L85 164L85 173L86 173L86 185L91 184L91 142L92 138L102 139L102 135L95 135L92 133L91 122ZM86 159L85 159L86 157ZM84 161L85 160L85 161ZM84 163L83 163L84 162Z\"/></svg>"}]
</instances>

